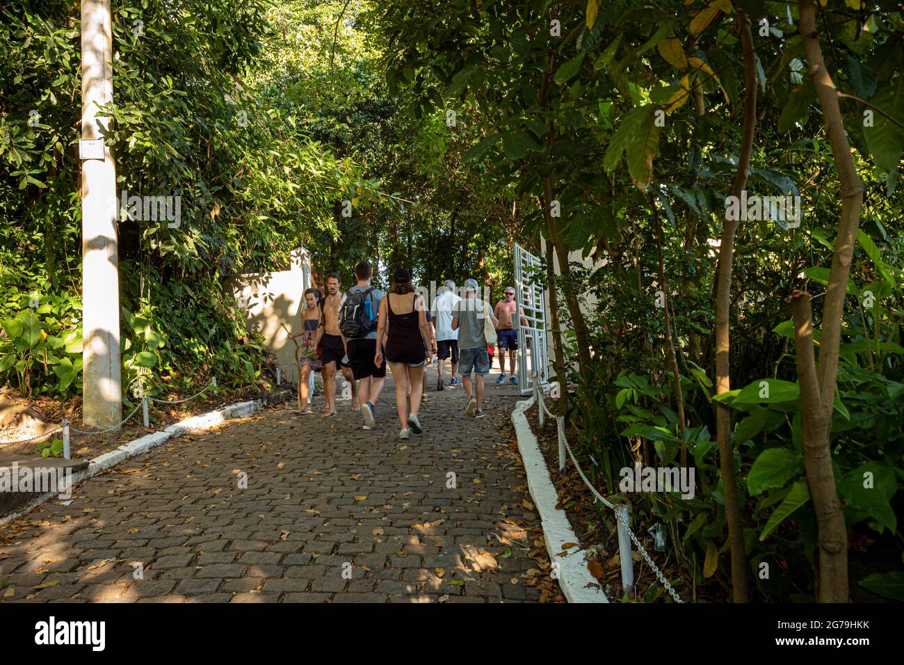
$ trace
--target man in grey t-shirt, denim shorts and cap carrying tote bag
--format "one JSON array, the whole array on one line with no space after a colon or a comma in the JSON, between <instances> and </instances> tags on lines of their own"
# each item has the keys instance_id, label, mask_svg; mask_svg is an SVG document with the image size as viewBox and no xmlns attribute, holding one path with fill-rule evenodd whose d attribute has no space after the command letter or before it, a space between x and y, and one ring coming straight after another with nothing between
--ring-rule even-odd
<instances>
[{"instance_id":1,"label":"man in grey t-shirt, denim shorts and cap carrying tote bag","mask_svg":"<svg viewBox=\"0 0 904 665\"><path fill-rule=\"evenodd\" d=\"M486 351L485 321L494 327L499 320L494 317L489 304L477 298L476 280L465 281L465 297L452 309L452 329L458 331L458 369L465 386L467 406L465 413L484 417L484 376L490 371L490 355ZM474 386L471 372L474 372Z\"/></svg>"}]
</instances>

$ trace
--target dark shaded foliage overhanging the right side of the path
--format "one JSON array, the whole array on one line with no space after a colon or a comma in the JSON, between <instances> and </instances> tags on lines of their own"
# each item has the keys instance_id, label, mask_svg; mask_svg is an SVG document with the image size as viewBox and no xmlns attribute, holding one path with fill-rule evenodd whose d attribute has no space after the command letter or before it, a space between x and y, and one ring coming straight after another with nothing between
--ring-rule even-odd
<instances>
[{"instance_id":1,"label":"dark shaded foliage overhanging the right side of the path","mask_svg":"<svg viewBox=\"0 0 904 665\"><path fill-rule=\"evenodd\" d=\"M577 251L600 260L593 269L573 264L555 284L564 300L559 356L567 360L558 369L576 370L567 415L592 479L618 494L619 470L635 463L692 465L699 483L692 500L677 493L621 499L641 524L666 527L680 561L672 583L689 595L713 593L712 583L730 580L731 545L713 407L730 406L741 584L755 584L758 598L814 598L818 528L787 299L814 296L818 343L844 190L824 128L828 113L806 68L798 7L753 0L378 5L374 24L391 43L391 84L418 96L419 114L456 109L459 122L475 128L480 140L466 157L489 167L500 185L514 184L521 200L539 202L527 221L558 256ZM741 43L742 12L752 24L752 52ZM863 586L898 597L904 23L893 3L830 0L818 12L864 182L832 463L851 533L852 585L867 572L890 573ZM717 395L715 280L744 142L745 55L759 92L747 194L799 196L803 214L801 223L790 214L751 214L740 223L726 303L737 387ZM590 311L580 306L586 293L597 299ZM880 560L858 558L874 541Z\"/></svg>"}]
</instances>

